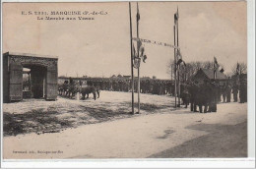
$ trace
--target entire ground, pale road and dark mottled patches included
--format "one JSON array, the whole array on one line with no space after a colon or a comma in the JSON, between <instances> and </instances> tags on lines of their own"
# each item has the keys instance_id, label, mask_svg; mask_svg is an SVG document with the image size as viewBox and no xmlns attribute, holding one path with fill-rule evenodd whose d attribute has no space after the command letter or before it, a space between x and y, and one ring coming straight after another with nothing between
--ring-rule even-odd
<instances>
[{"instance_id":1,"label":"entire ground, pale road and dark mottled patches included","mask_svg":"<svg viewBox=\"0 0 256 170\"><path fill-rule=\"evenodd\" d=\"M247 103L218 104L217 113L174 109L174 98L131 93L100 98L28 100L3 105L3 156L8 158L246 157Z\"/></svg>"}]
</instances>

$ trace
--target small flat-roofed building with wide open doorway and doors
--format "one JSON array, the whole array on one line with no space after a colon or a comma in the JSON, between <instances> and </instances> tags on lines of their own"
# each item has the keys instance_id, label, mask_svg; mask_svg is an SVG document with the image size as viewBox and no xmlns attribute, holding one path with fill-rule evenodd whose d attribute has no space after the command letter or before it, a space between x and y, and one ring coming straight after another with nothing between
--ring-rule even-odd
<instances>
[{"instance_id":1,"label":"small flat-roofed building with wide open doorway and doors","mask_svg":"<svg viewBox=\"0 0 256 170\"><path fill-rule=\"evenodd\" d=\"M58 58L25 53L3 54L3 101L23 98L55 100Z\"/></svg>"}]
</instances>

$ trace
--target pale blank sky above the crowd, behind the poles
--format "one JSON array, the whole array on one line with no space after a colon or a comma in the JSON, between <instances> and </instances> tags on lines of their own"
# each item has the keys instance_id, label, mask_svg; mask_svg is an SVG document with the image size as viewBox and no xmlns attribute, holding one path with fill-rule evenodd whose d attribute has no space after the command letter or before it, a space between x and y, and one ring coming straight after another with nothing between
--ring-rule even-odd
<instances>
[{"instance_id":1,"label":"pale blank sky above the crowd, behind the poles","mask_svg":"<svg viewBox=\"0 0 256 170\"><path fill-rule=\"evenodd\" d=\"M136 2L132 2L131 7L132 32L136 37ZM185 62L213 61L216 56L224 65L225 73L237 62L247 64L245 1L139 2L140 38L173 44L173 15L177 7L179 47ZM46 16L59 17L50 15L52 11L107 14L95 15L93 21L80 21L78 16L68 16L75 17L75 21L45 20ZM34 15L34 12L43 12L43 15ZM173 48L143 45L148 59L141 64L141 77L169 79L167 64L174 58ZM3 52L8 51L58 56L59 76L131 75L129 4L4 3ZM134 72L136 76L137 71Z\"/></svg>"}]
</instances>

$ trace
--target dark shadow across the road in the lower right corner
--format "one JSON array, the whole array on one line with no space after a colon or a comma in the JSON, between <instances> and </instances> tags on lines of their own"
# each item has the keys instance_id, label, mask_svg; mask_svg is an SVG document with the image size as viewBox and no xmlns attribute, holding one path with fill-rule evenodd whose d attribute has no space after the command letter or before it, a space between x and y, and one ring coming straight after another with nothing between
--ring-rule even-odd
<instances>
[{"instance_id":1,"label":"dark shadow across the road in the lower right corner","mask_svg":"<svg viewBox=\"0 0 256 170\"><path fill-rule=\"evenodd\" d=\"M247 121L237 125L197 124L187 129L210 134L153 154L151 158L247 157Z\"/></svg>"}]
</instances>

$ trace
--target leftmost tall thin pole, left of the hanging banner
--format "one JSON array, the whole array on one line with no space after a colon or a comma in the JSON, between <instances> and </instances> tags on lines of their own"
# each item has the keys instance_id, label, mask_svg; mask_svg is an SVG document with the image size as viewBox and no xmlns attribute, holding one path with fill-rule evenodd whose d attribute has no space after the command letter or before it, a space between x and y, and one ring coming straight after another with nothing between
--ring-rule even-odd
<instances>
[{"instance_id":1,"label":"leftmost tall thin pole, left of the hanging banner","mask_svg":"<svg viewBox=\"0 0 256 170\"><path fill-rule=\"evenodd\" d=\"M134 74L133 74L133 44L132 44L132 15L131 15L131 2L129 2L129 15L130 15L130 41L131 41L131 75L132 75L132 114L134 114Z\"/></svg>"}]
</instances>

